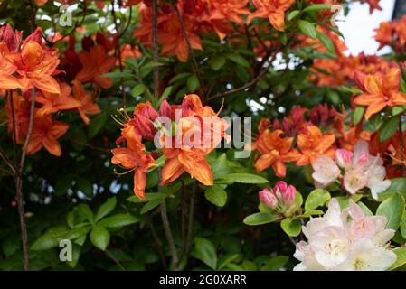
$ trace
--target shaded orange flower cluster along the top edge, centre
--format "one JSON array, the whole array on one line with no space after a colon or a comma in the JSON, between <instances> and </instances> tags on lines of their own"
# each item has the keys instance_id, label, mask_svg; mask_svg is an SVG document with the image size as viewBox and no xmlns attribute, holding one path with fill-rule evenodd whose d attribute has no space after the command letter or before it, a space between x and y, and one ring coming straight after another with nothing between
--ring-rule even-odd
<instances>
[{"instance_id":1,"label":"shaded orange flower cluster along the top edge, centre","mask_svg":"<svg viewBox=\"0 0 406 289\"><path fill-rule=\"evenodd\" d=\"M252 0L255 11L250 13L249 0L185 0L178 1L176 8L184 23L191 47L202 50L202 33L217 33L223 40L234 31L233 23L244 24L242 16L248 15L247 23L254 18L267 18L272 26L284 30L285 12L293 0ZM157 15L157 39L162 44L162 54L176 55L186 61L189 55L182 24L174 6L161 4ZM150 5L141 5L141 23L134 31L140 42L152 45L152 11Z\"/></svg>"}]
</instances>

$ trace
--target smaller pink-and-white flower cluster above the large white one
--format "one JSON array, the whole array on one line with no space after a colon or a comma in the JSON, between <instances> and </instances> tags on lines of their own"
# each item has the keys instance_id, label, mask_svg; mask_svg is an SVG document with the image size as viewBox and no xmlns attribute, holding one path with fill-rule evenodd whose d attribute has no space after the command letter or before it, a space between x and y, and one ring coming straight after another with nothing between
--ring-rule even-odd
<instances>
[{"instance_id":1,"label":"smaller pink-and-white flower cluster above the large white one","mask_svg":"<svg viewBox=\"0 0 406 289\"><path fill-rule=\"evenodd\" d=\"M358 141L354 145L354 153L345 149L335 151L335 161L322 155L313 163L312 177L316 188L326 188L339 179L351 194L369 188L373 199L391 186L390 180L385 180L386 171L382 158L369 154L368 143Z\"/></svg>"}]
</instances>

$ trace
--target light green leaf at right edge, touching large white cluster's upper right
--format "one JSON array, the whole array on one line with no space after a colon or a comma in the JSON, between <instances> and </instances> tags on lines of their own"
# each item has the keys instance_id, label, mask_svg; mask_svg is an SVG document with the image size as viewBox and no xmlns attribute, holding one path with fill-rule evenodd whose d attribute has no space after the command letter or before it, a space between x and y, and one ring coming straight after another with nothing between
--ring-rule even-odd
<instances>
[{"instance_id":1,"label":"light green leaf at right edge, touching large white cluster's upper right","mask_svg":"<svg viewBox=\"0 0 406 289\"><path fill-rule=\"evenodd\" d=\"M397 230L401 223L401 217L404 210L404 198L397 193L392 194L386 200L383 200L376 210L376 215L385 216L387 219L386 228Z\"/></svg>"}]
</instances>

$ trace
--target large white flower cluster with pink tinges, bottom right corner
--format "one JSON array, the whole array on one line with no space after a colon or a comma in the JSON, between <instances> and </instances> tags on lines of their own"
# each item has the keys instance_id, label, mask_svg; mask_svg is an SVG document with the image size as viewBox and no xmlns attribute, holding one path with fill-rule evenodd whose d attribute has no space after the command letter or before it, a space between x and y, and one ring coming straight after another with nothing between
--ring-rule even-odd
<instances>
[{"instance_id":1,"label":"large white flower cluster with pink tinges, bottom right corner","mask_svg":"<svg viewBox=\"0 0 406 289\"><path fill-rule=\"evenodd\" d=\"M386 222L382 216L365 216L353 200L345 210L330 200L326 214L303 227L307 242L297 243L294 256L300 263L294 270L386 270L396 261L386 246L394 235Z\"/></svg>"}]
</instances>

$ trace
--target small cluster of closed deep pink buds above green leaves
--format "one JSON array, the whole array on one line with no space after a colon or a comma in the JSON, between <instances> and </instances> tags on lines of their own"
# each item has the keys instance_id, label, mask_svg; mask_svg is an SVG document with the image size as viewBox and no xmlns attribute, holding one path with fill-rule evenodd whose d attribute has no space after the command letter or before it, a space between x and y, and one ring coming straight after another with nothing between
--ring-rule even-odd
<instances>
[{"instance_id":1,"label":"small cluster of closed deep pink buds above green leaves","mask_svg":"<svg viewBox=\"0 0 406 289\"><path fill-rule=\"evenodd\" d=\"M286 214L292 212L295 204L296 188L286 182L279 181L272 190L264 189L259 192L260 201L272 210Z\"/></svg>"}]
</instances>

